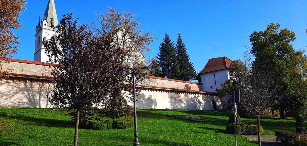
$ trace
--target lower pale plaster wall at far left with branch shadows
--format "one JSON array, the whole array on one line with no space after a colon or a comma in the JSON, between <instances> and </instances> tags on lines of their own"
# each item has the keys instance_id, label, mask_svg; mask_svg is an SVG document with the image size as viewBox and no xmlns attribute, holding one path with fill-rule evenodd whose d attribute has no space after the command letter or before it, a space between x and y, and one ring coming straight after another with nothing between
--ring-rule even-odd
<instances>
[{"instance_id":1,"label":"lower pale plaster wall at far left with branch shadows","mask_svg":"<svg viewBox=\"0 0 307 146\"><path fill-rule=\"evenodd\" d=\"M50 95L53 85L42 82L33 83L26 82L23 78L20 82L12 77L8 80L9 83L0 84L0 107L33 107L33 108L53 108L46 95Z\"/></svg>"}]
</instances>

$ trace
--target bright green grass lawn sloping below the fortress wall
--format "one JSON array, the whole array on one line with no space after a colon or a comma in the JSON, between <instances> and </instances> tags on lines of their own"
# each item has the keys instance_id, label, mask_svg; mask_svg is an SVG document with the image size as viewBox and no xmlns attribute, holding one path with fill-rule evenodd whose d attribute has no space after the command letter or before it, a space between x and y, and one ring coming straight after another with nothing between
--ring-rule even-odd
<instances>
[{"instance_id":1,"label":"bright green grass lawn sloping below the fortress wall","mask_svg":"<svg viewBox=\"0 0 307 146\"><path fill-rule=\"evenodd\" d=\"M223 146L234 145L234 135L225 134L229 112L204 110L138 109L138 133L141 145ZM0 145L73 145L74 125L66 110L37 108L0 108ZM198 115L222 119L200 123L164 115ZM248 124L256 119L242 118ZM295 130L294 120L261 119L264 134L276 129ZM79 129L79 145L131 146L134 128L87 130ZM239 146L256 146L238 135Z\"/></svg>"}]
</instances>

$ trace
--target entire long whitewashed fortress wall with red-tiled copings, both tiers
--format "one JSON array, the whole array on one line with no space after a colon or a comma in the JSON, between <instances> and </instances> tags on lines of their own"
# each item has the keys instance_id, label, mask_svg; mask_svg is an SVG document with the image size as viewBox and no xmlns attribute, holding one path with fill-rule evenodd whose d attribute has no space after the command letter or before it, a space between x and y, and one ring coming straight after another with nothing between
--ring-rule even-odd
<instances>
[{"instance_id":1,"label":"entire long whitewashed fortress wall with red-tiled copings, both tiers","mask_svg":"<svg viewBox=\"0 0 307 146\"><path fill-rule=\"evenodd\" d=\"M49 84L49 66L44 67L42 62L37 61L11 60L9 64L2 64L2 70L11 68L14 71L10 72L7 83L2 81L0 84L0 107L52 108L46 99L53 89ZM218 110L222 109L217 94L203 92L201 83L150 77L145 83L139 82L137 88L140 90L139 109L213 110L212 100Z\"/></svg>"}]
</instances>

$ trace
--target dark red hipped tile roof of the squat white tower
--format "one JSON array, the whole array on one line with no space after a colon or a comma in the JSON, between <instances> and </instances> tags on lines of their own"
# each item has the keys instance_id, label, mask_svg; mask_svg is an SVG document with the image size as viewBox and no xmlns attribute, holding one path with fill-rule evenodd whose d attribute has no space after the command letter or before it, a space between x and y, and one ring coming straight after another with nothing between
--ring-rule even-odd
<instances>
[{"instance_id":1,"label":"dark red hipped tile roof of the squat white tower","mask_svg":"<svg viewBox=\"0 0 307 146\"><path fill-rule=\"evenodd\" d=\"M232 61L227 57L217 57L209 59L204 69L199 74L228 69Z\"/></svg>"}]
</instances>

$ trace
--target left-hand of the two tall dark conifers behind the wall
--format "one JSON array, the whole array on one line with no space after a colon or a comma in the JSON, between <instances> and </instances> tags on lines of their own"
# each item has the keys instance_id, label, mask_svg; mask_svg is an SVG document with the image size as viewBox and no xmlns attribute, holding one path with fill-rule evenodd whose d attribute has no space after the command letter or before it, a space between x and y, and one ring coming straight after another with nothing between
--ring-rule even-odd
<instances>
[{"instance_id":1,"label":"left-hand of the two tall dark conifers behind the wall","mask_svg":"<svg viewBox=\"0 0 307 146\"><path fill-rule=\"evenodd\" d=\"M179 65L176 57L176 47L174 42L165 34L163 42L160 43L160 53L157 53L157 63L161 67L161 77L177 79Z\"/></svg>"}]
</instances>

